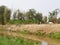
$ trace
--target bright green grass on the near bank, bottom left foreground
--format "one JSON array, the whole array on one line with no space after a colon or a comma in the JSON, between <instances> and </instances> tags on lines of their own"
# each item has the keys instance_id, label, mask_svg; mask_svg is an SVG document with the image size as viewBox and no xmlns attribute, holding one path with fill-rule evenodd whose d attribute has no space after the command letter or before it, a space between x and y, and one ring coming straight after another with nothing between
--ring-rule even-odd
<instances>
[{"instance_id":1,"label":"bright green grass on the near bank, bottom left foreground","mask_svg":"<svg viewBox=\"0 0 60 45\"><path fill-rule=\"evenodd\" d=\"M6 37L0 35L0 45L41 45L41 42L18 37Z\"/></svg>"}]
</instances>

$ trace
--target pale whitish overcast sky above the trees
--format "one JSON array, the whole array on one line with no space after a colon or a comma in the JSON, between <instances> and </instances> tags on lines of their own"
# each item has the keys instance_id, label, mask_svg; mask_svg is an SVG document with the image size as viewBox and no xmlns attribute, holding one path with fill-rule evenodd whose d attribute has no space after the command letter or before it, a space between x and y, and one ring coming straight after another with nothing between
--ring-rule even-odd
<instances>
[{"instance_id":1,"label":"pale whitish overcast sky above the trees","mask_svg":"<svg viewBox=\"0 0 60 45\"><path fill-rule=\"evenodd\" d=\"M7 6L12 11L16 9L27 11L32 8L43 13L43 16L48 16L48 12L60 9L60 0L0 0L1 5Z\"/></svg>"}]
</instances>

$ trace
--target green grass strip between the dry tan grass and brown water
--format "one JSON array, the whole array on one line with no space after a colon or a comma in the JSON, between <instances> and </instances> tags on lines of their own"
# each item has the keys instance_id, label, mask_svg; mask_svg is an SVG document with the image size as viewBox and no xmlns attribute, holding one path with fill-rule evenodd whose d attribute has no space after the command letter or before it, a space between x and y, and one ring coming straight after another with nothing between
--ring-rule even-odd
<instances>
[{"instance_id":1,"label":"green grass strip between the dry tan grass and brown water","mask_svg":"<svg viewBox=\"0 0 60 45\"><path fill-rule=\"evenodd\" d=\"M4 31L8 31L8 30L0 30L2 32ZM60 39L60 32L51 32L49 34L46 34L46 32L40 32L40 31L36 31L36 32L30 32L29 30L23 30L23 31L12 31L10 30L9 32L16 32L16 33L20 33L20 34L28 34L28 35L35 35L35 36L44 36L44 37L49 37L49 38L54 38L54 39Z\"/></svg>"}]
</instances>

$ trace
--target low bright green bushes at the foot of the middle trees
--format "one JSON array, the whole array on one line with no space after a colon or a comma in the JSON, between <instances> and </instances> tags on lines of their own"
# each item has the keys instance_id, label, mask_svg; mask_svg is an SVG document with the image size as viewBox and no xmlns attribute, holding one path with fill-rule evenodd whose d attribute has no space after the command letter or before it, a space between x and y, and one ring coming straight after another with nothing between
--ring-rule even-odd
<instances>
[{"instance_id":1,"label":"low bright green bushes at the foot of the middle trees","mask_svg":"<svg viewBox=\"0 0 60 45\"><path fill-rule=\"evenodd\" d=\"M37 20L10 20L10 24L35 24L37 23Z\"/></svg>"}]
</instances>

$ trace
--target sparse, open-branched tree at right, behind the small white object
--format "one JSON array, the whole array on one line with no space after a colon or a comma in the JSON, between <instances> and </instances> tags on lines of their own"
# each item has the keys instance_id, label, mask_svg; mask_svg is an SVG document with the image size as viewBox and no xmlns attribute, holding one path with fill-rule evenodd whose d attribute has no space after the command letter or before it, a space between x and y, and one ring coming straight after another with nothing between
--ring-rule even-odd
<instances>
[{"instance_id":1,"label":"sparse, open-branched tree at right, behind the small white object","mask_svg":"<svg viewBox=\"0 0 60 45\"><path fill-rule=\"evenodd\" d=\"M60 12L59 9L55 9L52 12L49 12L49 22L56 23L57 22L57 15Z\"/></svg>"}]
</instances>

